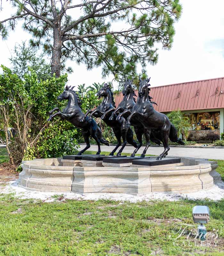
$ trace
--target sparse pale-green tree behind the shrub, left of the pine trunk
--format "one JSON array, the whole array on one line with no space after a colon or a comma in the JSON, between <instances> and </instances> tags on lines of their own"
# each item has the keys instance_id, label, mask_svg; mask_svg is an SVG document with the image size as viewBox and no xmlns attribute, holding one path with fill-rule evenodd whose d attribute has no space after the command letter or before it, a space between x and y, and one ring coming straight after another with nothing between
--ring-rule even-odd
<instances>
[{"instance_id":1,"label":"sparse pale-green tree behind the shrub, left of the pine trunk","mask_svg":"<svg viewBox=\"0 0 224 256\"><path fill-rule=\"evenodd\" d=\"M26 42L22 42L21 45L15 45L14 54L9 60L12 72L17 74L19 78L24 77L29 72L29 68L36 72L39 80L46 80L51 77L51 66L44 60L43 53L37 56L36 51L26 46Z\"/></svg>"}]
</instances>

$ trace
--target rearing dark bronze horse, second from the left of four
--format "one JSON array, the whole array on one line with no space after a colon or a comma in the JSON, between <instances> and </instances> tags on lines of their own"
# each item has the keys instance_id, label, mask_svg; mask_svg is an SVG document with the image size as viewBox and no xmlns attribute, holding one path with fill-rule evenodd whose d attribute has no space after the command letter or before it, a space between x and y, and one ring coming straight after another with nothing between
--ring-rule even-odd
<instances>
[{"instance_id":1,"label":"rearing dark bronze horse, second from the left of four","mask_svg":"<svg viewBox=\"0 0 224 256\"><path fill-rule=\"evenodd\" d=\"M113 156L116 152L117 148L121 146L121 137L123 140L123 144L121 149L118 151L117 156L121 155L121 152L123 151L124 147L126 146L127 142L137 148L137 143L133 140L133 132L132 129L129 128L126 130L126 120L122 117L119 120L116 120L117 116L114 116L112 119L110 119L109 113L113 112L115 110L115 102L113 97L113 92L111 91L108 84L104 84L104 86L100 89L99 92L97 92L98 97L103 97L103 101L94 110L88 110L86 114L84 115L83 119L87 117L88 114L90 114L90 120L92 119L92 116L94 117L101 117L102 120L112 128L115 137L117 139L117 145L113 149L113 151L110 153L110 156ZM82 121L82 120L81 120Z\"/></svg>"}]
</instances>

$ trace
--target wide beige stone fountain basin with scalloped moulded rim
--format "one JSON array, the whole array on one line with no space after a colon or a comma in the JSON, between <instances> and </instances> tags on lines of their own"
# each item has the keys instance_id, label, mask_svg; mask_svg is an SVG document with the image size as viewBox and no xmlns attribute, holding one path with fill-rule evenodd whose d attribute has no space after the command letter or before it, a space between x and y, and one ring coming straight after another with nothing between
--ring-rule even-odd
<instances>
[{"instance_id":1,"label":"wide beige stone fountain basin with scalloped moulded rim","mask_svg":"<svg viewBox=\"0 0 224 256\"><path fill-rule=\"evenodd\" d=\"M159 166L82 166L61 158L23 161L19 186L42 192L191 193L221 181L217 162L181 157L181 163Z\"/></svg>"}]
</instances>

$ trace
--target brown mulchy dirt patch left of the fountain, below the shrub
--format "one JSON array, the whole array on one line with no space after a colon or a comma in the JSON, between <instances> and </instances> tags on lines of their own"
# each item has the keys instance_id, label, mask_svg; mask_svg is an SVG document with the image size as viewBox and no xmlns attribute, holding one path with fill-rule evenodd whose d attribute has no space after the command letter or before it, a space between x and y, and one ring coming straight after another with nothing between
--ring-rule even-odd
<instances>
[{"instance_id":1,"label":"brown mulchy dirt patch left of the fountain, below the shrub","mask_svg":"<svg viewBox=\"0 0 224 256\"><path fill-rule=\"evenodd\" d=\"M16 172L15 166L10 163L0 164L0 187L11 180L17 180L19 172Z\"/></svg>"}]
</instances>

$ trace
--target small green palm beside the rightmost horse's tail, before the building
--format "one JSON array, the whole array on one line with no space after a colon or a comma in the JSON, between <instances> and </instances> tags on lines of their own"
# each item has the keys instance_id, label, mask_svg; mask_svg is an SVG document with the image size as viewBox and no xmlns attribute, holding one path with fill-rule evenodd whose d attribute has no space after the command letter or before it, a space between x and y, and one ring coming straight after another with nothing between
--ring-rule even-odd
<instances>
[{"instance_id":1,"label":"small green palm beside the rightmost horse's tail, before the building","mask_svg":"<svg viewBox=\"0 0 224 256\"><path fill-rule=\"evenodd\" d=\"M180 110L174 110L167 115L171 123L177 129L177 135L182 135L183 139L186 140L188 136L188 130L190 127L190 120Z\"/></svg>"}]
</instances>

